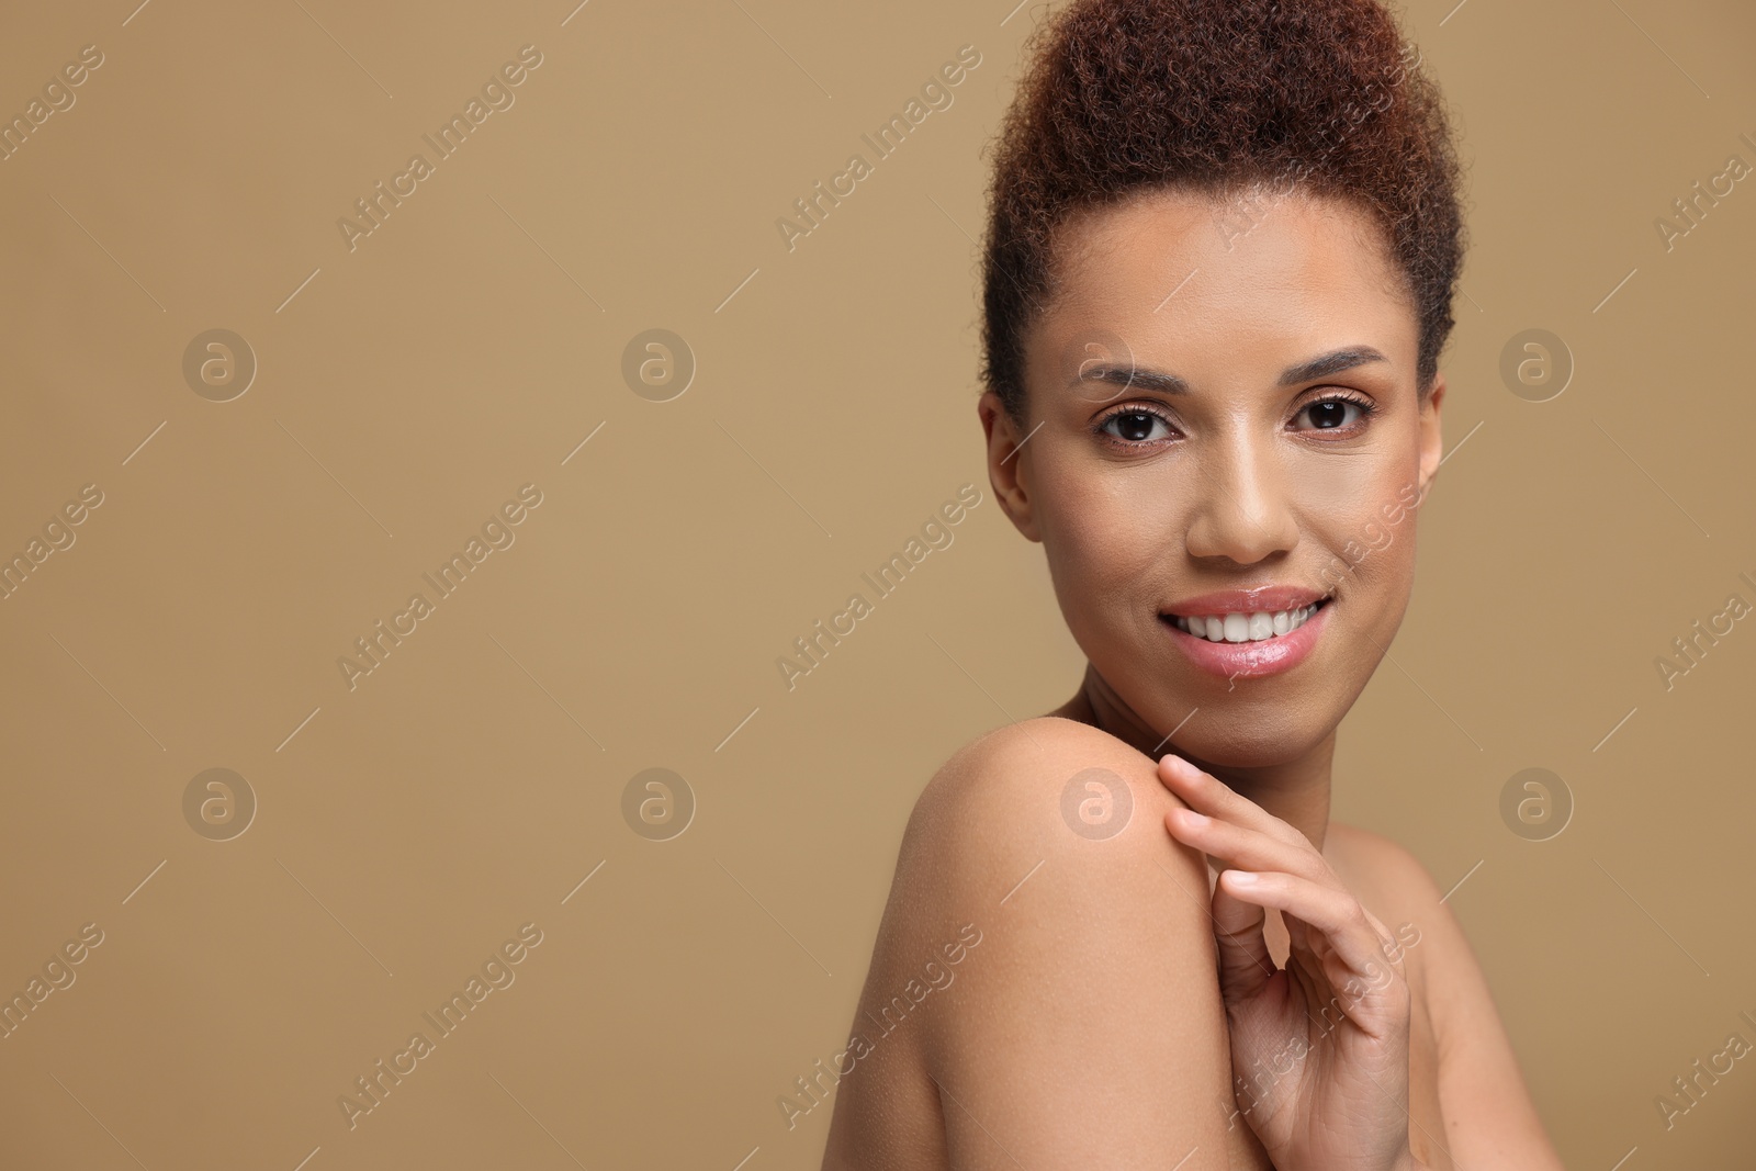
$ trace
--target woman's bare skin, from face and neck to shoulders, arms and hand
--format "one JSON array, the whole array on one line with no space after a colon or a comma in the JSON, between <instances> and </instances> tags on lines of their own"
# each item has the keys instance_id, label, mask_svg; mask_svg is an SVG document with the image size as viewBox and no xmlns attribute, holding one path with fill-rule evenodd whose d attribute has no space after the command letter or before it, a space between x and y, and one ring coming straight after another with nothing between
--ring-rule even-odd
<instances>
[{"instance_id":1,"label":"woman's bare skin, from face and neck to shoulders, arms and hand","mask_svg":"<svg viewBox=\"0 0 1756 1171\"><path fill-rule=\"evenodd\" d=\"M978 414L1085 678L917 801L824 1167L1559 1169L1436 885L1329 822L1442 456L1382 235L1303 190L1159 190L1057 246L1026 418ZM1268 585L1331 595L1280 674L1203 671L1161 618ZM1108 836L1062 813L1089 769L1129 809ZM901 1011L964 923L980 946Z\"/></svg>"}]
</instances>

